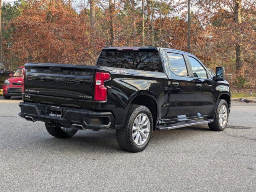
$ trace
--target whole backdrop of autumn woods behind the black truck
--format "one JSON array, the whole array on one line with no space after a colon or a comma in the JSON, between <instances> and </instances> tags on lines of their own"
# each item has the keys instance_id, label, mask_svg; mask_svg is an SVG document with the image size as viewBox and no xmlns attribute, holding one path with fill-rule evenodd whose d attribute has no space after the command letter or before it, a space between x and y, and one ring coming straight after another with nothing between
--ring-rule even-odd
<instances>
[{"instance_id":1,"label":"whole backdrop of autumn woods behind the black truck","mask_svg":"<svg viewBox=\"0 0 256 192\"><path fill-rule=\"evenodd\" d=\"M80 6L78 3L84 3ZM94 64L104 46L187 51L187 0L20 0L4 4L4 61ZM191 53L224 66L234 87L256 88L256 2L191 0ZM18 14L14 14L14 8ZM4 15L3 15L4 14Z\"/></svg>"}]
</instances>

